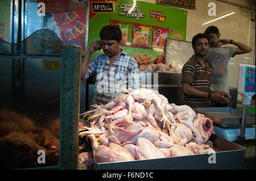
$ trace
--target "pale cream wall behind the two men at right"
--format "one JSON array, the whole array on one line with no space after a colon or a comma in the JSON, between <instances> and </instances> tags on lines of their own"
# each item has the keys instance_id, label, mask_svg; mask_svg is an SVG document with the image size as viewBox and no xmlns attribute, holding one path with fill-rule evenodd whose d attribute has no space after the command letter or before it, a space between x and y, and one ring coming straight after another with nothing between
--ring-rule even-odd
<instances>
[{"instance_id":1,"label":"pale cream wall behind the two men at right","mask_svg":"<svg viewBox=\"0 0 256 181\"><path fill-rule=\"evenodd\" d=\"M155 0L140 1L155 3ZM208 15L208 10L210 9L208 4L210 2L216 4L216 16ZM183 10L188 11L186 37L187 41L191 41L192 37L197 33L204 32L208 26L213 25L218 27L222 39L233 39L234 41L241 42L253 48L253 51L250 53L236 55L229 61L229 87L237 87L239 64L255 65L255 21L251 20L251 14L242 11L242 9L238 6L214 0L196 0L195 10ZM208 22L209 20L229 14L230 12L235 13L215 22L201 26L201 24ZM236 47L234 45L228 46ZM241 96L238 96L238 100L241 100Z\"/></svg>"}]
</instances>

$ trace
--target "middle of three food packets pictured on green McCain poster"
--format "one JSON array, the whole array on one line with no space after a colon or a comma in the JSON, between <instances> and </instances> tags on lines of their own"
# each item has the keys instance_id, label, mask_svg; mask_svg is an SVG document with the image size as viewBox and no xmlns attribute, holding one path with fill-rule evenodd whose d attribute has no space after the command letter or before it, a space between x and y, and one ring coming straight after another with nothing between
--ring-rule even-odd
<instances>
[{"instance_id":1,"label":"middle of three food packets pictured on green McCain poster","mask_svg":"<svg viewBox=\"0 0 256 181\"><path fill-rule=\"evenodd\" d=\"M132 23L131 47L149 49L150 25Z\"/></svg>"}]
</instances>

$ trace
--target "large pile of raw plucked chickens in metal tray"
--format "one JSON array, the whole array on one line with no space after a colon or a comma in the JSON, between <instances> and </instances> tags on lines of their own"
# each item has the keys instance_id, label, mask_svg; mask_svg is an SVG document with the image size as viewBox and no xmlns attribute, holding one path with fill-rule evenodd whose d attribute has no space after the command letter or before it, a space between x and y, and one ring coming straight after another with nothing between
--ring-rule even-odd
<instances>
[{"instance_id":1,"label":"large pile of raw plucked chickens in metal tray","mask_svg":"<svg viewBox=\"0 0 256 181\"><path fill-rule=\"evenodd\" d=\"M166 97L150 89L122 88L105 106L94 105L90 127L80 125L80 136L92 141L92 152L79 155L79 162L133 161L213 153L208 139L213 122L191 107L169 104Z\"/></svg>"}]
</instances>

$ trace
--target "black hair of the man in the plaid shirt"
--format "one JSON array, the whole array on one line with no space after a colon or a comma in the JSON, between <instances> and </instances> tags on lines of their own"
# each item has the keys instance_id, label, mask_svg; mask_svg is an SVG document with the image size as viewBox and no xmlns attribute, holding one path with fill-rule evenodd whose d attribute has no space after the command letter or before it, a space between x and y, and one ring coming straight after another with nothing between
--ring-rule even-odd
<instances>
[{"instance_id":1,"label":"black hair of the man in the plaid shirt","mask_svg":"<svg viewBox=\"0 0 256 181\"><path fill-rule=\"evenodd\" d=\"M119 25L108 25L101 29L100 32L101 40L115 40L117 42L122 39L122 32Z\"/></svg>"}]
</instances>

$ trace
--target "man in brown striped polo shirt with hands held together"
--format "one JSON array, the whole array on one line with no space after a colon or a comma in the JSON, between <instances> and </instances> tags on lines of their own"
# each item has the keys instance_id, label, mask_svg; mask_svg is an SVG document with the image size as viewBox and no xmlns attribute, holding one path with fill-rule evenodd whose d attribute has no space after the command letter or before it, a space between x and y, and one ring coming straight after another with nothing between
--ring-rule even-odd
<instances>
[{"instance_id":1,"label":"man in brown striped polo shirt with hands held together","mask_svg":"<svg viewBox=\"0 0 256 181\"><path fill-rule=\"evenodd\" d=\"M198 33L192 39L195 54L185 63L182 69L182 92L185 95L184 104L196 107L210 107L210 100L218 103L228 103L225 91L210 90L210 73L212 69L205 60L210 39L204 33Z\"/></svg>"}]
</instances>

